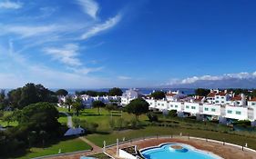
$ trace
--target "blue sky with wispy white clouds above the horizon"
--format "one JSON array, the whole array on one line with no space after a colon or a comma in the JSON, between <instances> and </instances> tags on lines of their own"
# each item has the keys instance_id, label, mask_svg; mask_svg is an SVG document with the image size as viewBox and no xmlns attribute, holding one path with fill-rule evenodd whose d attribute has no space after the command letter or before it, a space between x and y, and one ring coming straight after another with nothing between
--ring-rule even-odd
<instances>
[{"instance_id":1,"label":"blue sky with wispy white clouds above the horizon","mask_svg":"<svg viewBox=\"0 0 256 159\"><path fill-rule=\"evenodd\" d=\"M255 7L253 0L1 0L0 87L255 81Z\"/></svg>"}]
</instances>

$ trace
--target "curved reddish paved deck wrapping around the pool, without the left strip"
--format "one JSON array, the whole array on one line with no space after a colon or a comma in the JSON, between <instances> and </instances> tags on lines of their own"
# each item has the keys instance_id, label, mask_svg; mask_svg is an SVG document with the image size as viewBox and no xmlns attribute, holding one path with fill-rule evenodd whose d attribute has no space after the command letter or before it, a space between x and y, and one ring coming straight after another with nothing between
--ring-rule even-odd
<instances>
[{"instance_id":1,"label":"curved reddish paved deck wrapping around the pool, without the left strip","mask_svg":"<svg viewBox=\"0 0 256 159\"><path fill-rule=\"evenodd\" d=\"M128 147L131 145L137 145L138 149L147 148L149 146L158 146L163 143L182 143L189 144L193 147L217 154L224 159L256 159L256 153L251 151L244 150L242 151L239 147L234 147L231 145L223 145L217 143L206 142L198 139L188 139L188 138L159 138L159 139L146 139L140 140L128 144L120 144L120 148ZM110 147L107 150L107 153L114 156L117 159L120 159L116 155L116 146Z\"/></svg>"}]
</instances>

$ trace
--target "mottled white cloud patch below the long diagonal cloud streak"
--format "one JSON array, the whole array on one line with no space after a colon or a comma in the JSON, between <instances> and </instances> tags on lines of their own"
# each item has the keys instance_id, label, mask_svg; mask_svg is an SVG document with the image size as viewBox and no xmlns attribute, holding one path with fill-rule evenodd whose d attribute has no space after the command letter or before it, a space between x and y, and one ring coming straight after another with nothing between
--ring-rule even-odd
<instances>
[{"instance_id":1,"label":"mottled white cloud patch below the long diagonal cloud streak","mask_svg":"<svg viewBox=\"0 0 256 159\"><path fill-rule=\"evenodd\" d=\"M71 66L82 65L80 60L77 58L78 50L79 46L76 44L64 45L62 48L48 47L44 49L46 55L52 55L54 60Z\"/></svg>"}]
</instances>

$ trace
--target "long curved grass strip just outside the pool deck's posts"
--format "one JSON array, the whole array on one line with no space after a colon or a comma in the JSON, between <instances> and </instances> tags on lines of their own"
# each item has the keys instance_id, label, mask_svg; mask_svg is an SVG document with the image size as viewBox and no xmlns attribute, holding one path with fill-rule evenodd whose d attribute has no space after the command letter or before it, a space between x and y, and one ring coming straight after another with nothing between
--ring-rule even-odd
<instances>
[{"instance_id":1,"label":"long curved grass strip just outside the pool deck's posts","mask_svg":"<svg viewBox=\"0 0 256 159\"><path fill-rule=\"evenodd\" d=\"M233 144L244 145L248 144L250 148L256 149L256 138L255 137L245 137L238 134L225 134L220 132L205 131L199 129L186 129L179 127L159 127L159 126L148 126L144 129L139 130L125 130L119 132L113 132L112 134L90 134L87 136L87 139L91 142L97 144L98 146L103 145L105 140L107 144L115 144L117 138L121 141L123 137L126 140L134 139L138 137L145 137L151 135L190 135L202 138L215 139L219 141L226 141Z\"/></svg>"}]
</instances>

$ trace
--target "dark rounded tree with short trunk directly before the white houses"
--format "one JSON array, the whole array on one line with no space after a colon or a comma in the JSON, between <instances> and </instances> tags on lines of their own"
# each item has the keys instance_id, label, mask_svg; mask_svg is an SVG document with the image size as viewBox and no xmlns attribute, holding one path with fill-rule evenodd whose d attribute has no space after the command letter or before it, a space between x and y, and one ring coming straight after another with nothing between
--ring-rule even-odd
<instances>
[{"instance_id":1,"label":"dark rounded tree with short trunk directly before the white houses","mask_svg":"<svg viewBox=\"0 0 256 159\"><path fill-rule=\"evenodd\" d=\"M140 114L148 113L149 104L142 98L137 98L126 106L126 110L129 114L135 114L136 119L138 120L138 116Z\"/></svg>"}]
</instances>

